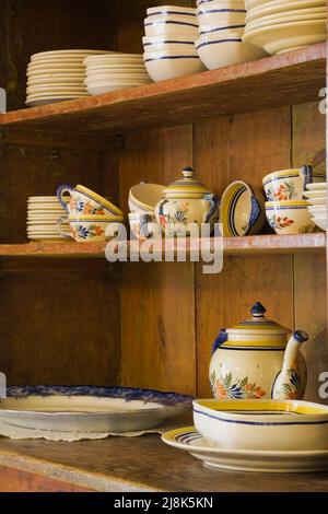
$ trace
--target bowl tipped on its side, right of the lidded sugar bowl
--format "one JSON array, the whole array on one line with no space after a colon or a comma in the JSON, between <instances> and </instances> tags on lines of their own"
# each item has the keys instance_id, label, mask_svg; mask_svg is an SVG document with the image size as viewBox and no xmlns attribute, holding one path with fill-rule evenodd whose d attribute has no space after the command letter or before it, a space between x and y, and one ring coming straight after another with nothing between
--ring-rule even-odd
<instances>
[{"instance_id":1,"label":"bowl tipped on its side, right of the lidded sugar bowl","mask_svg":"<svg viewBox=\"0 0 328 514\"><path fill-rule=\"evenodd\" d=\"M258 234L266 223L262 192L237 180L224 191L220 222L225 237Z\"/></svg>"}]
</instances>

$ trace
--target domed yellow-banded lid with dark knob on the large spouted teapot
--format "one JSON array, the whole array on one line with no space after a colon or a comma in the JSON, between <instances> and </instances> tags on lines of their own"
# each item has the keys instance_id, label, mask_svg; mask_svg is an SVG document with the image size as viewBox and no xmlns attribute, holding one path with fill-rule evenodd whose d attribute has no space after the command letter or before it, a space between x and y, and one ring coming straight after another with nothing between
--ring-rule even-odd
<instances>
[{"instance_id":1,"label":"domed yellow-banded lid with dark knob on the large spouted teapot","mask_svg":"<svg viewBox=\"0 0 328 514\"><path fill-rule=\"evenodd\" d=\"M226 330L234 336L283 336L291 334L286 327L279 325L272 319L268 319L265 314L267 309L260 302L257 302L251 308L251 318L235 325Z\"/></svg>"}]
</instances>

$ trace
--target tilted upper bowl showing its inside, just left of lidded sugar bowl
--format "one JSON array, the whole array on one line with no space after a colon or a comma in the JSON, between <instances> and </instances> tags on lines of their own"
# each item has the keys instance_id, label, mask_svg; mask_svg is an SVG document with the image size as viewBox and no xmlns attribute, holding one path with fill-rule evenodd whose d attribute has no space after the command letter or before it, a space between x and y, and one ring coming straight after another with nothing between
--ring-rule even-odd
<instances>
[{"instance_id":1,"label":"tilted upper bowl showing its inside, just left of lidded sugar bowl","mask_svg":"<svg viewBox=\"0 0 328 514\"><path fill-rule=\"evenodd\" d=\"M129 192L129 209L138 214L154 214L155 206L163 196L165 186L141 183L131 187Z\"/></svg>"}]
</instances>

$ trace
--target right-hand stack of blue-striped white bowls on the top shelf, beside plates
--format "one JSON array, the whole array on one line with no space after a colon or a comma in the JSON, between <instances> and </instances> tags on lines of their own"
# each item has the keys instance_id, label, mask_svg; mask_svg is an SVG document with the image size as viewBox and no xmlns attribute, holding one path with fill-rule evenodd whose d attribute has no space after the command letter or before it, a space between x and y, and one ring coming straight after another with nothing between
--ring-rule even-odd
<instances>
[{"instance_id":1,"label":"right-hand stack of blue-striped white bowls on the top shelf, beside plates","mask_svg":"<svg viewBox=\"0 0 328 514\"><path fill-rule=\"evenodd\" d=\"M210 70L260 59L266 52L243 42L246 9L244 0L198 1L199 39L196 48Z\"/></svg>"}]
</instances>

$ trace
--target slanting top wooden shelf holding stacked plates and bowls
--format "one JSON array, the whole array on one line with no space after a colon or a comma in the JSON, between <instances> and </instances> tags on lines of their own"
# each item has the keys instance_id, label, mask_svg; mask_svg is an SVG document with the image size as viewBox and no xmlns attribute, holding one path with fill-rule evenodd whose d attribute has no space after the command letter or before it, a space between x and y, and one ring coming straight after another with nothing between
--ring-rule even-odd
<instances>
[{"instance_id":1,"label":"slanting top wooden shelf holding stacked plates and bowls","mask_svg":"<svg viewBox=\"0 0 328 514\"><path fill-rule=\"evenodd\" d=\"M132 90L0 115L4 129L124 133L319 100L326 45Z\"/></svg>"}]
</instances>

